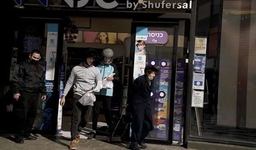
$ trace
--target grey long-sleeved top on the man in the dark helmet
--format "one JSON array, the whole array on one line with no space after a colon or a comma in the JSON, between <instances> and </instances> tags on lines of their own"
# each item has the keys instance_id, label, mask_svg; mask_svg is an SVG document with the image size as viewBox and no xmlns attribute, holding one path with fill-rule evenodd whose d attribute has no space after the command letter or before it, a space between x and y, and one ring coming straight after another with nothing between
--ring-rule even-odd
<instances>
[{"instance_id":1,"label":"grey long-sleeved top on the man in the dark helmet","mask_svg":"<svg viewBox=\"0 0 256 150\"><path fill-rule=\"evenodd\" d=\"M98 81L102 81L99 69L93 65L84 67L83 63L80 63L72 69L62 96L67 95L73 84L74 94L83 96L88 90L93 89Z\"/></svg>"}]
</instances>

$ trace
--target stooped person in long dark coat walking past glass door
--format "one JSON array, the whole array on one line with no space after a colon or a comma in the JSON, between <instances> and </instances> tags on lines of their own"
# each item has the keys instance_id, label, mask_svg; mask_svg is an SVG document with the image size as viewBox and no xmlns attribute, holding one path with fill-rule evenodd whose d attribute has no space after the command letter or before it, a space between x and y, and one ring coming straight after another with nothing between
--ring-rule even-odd
<instances>
[{"instance_id":1,"label":"stooped person in long dark coat walking past glass door","mask_svg":"<svg viewBox=\"0 0 256 150\"><path fill-rule=\"evenodd\" d=\"M154 129L152 122L152 112L150 105L150 95L153 87L153 79L158 72L154 66L149 65L145 67L145 75L135 79L131 94L131 109L132 109L132 122L131 122L131 150L140 150L147 147L144 144L144 139L148 133Z\"/></svg>"}]
</instances>

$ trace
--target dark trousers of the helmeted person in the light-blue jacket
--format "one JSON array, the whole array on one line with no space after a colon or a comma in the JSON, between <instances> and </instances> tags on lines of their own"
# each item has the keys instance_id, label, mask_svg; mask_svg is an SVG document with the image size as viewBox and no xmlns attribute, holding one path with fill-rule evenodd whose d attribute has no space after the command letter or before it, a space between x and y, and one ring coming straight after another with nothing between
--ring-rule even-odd
<instances>
[{"instance_id":1,"label":"dark trousers of the helmeted person in the light-blue jacket","mask_svg":"<svg viewBox=\"0 0 256 150\"><path fill-rule=\"evenodd\" d=\"M111 96L96 95L96 101L93 103L93 130L97 130L100 102L104 109L104 115L108 126L111 122Z\"/></svg>"}]
</instances>

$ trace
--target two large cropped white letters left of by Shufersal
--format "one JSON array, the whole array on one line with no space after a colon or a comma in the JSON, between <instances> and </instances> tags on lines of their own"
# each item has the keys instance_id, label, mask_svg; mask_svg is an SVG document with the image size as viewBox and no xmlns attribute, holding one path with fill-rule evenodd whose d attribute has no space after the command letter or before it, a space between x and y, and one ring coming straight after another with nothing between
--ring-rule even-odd
<instances>
[{"instance_id":1,"label":"two large cropped white letters left of by Shufersal","mask_svg":"<svg viewBox=\"0 0 256 150\"><path fill-rule=\"evenodd\" d=\"M68 6L70 6L71 8L74 7L74 0L65 0L65 2L67 3ZM81 8L84 7L87 3L89 2L89 0L79 0L77 1L77 8ZM106 3L104 2L104 0L96 0L96 3L102 7L103 9L113 9L116 6L118 6L118 3L116 2L116 0L114 0L111 3Z\"/></svg>"}]
</instances>

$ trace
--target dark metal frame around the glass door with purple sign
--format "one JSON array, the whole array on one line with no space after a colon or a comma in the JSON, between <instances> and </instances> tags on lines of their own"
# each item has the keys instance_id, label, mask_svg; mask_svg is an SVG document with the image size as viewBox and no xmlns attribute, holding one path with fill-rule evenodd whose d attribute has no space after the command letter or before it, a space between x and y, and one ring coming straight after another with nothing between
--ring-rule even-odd
<instances>
[{"instance_id":1,"label":"dark metal frame around the glass door with purple sign","mask_svg":"<svg viewBox=\"0 0 256 150\"><path fill-rule=\"evenodd\" d=\"M172 79L171 79L171 98L170 101L173 103L170 104L169 112L169 138L167 141L157 140L157 139L148 139L145 141L152 144L168 144L172 145L173 140L173 124L174 124L174 106L175 106L175 86L176 86L176 70L177 70L177 47L178 47L178 30L179 22L140 22L133 21L131 23L131 51L130 51L130 66L129 66L129 77L128 77L128 89L131 89L133 83L133 73L134 73L134 54L135 54L135 37L136 37L136 28L141 27L169 27L174 28L174 41L173 41L173 58L172 58ZM128 99L131 98L131 95L128 95Z\"/></svg>"}]
</instances>

